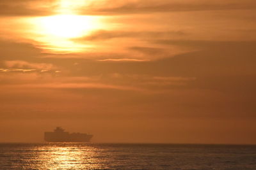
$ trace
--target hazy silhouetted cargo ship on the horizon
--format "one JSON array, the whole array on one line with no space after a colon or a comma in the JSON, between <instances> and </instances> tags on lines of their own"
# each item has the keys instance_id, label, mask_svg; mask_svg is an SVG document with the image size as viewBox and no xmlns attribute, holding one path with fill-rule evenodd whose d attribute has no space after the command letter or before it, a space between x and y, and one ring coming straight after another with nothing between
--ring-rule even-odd
<instances>
[{"instance_id":1,"label":"hazy silhouetted cargo ship on the horizon","mask_svg":"<svg viewBox=\"0 0 256 170\"><path fill-rule=\"evenodd\" d=\"M44 132L47 142L90 142L92 134L65 132L61 127L56 127L53 132Z\"/></svg>"}]
</instances>

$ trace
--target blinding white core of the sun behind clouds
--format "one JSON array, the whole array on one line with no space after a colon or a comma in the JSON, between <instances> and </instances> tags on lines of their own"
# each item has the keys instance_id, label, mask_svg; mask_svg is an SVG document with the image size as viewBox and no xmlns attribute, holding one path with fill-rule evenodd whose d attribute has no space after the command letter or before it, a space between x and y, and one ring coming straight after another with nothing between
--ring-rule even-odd
<instances>
[{"instance_id":1,"label":"blinding white core of the sun behind clouds","mask_svg":"<svg viewBox=\"0 0 256 170\"><path fill-rule=\"evenodd\" d=\"M78 38L95 27L92 18L82 15L54 15L41 22L44 34L59 38Z\"/></svg>"}]
</instances>

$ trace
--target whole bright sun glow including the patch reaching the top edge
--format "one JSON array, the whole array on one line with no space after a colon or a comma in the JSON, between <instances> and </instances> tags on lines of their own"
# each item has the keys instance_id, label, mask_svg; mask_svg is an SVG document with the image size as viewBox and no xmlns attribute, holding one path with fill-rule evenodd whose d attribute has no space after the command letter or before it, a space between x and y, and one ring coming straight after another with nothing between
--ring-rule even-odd
<instances>
[{"instance_id":1,"label":"whole bright sun glow including the patch reaching the top edge","mask_svg":"<svg viewBox=\"0 0 256 170\"><path fill-rule=\"evenodd\" d=\"M25 39L33 39L34 44L46 52L82 52L93 48L92 43L81 39L108 27L103 22L104 17L77 13L77 9L86 6L90 1L58 0L58 7L54 9L58 15L24 18L22 24L26 22L26 28L22 29L20 35Z\"/></svg>"}]
</instances>

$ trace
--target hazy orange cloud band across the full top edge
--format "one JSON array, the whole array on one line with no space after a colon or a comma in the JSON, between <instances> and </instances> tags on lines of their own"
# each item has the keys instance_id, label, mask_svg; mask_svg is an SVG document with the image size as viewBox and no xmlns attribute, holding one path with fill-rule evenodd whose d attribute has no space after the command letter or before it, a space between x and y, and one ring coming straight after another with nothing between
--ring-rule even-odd
<instances>
[{"instance_id":1,"label":"hazy orange cloud band across the full top edge","mask_svg":"<svg viewBox=\"0 0 256 170\"><path fill-rule=\"evenodd\" d=\"M76 8L84 15L127 15L132 13L154 13L172 11L212 11L212 10L255 10L256 3L253 0L246 1L171 1L171 0L129 0L129 1L75 1L74 3L84 6L69 6ZM59 0L42 1L1 1L0 15L2 16L42 16L56 13L61 6ZM65 7L65 8L68 8ZM89 10L88 10L89 9ZM55 11L54 11L55 10Z\"/></svg>"}]
</instances>

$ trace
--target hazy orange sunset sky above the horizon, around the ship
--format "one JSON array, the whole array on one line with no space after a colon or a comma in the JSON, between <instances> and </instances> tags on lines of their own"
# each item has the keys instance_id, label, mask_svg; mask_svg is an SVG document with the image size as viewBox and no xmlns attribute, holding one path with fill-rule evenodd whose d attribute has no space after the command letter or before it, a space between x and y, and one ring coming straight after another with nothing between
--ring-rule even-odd
<instances>
[{"instance_id":1,"label":"hazy orange sunset sky above the horizon, around the ship","mask_svg":"<svg viewBox=\"0 0 256 170\"><path fill-rule=\"evenodd\" d=\"M256 144L255 0L1 0L0 142Z\"/></svg>"}]
</instances>

